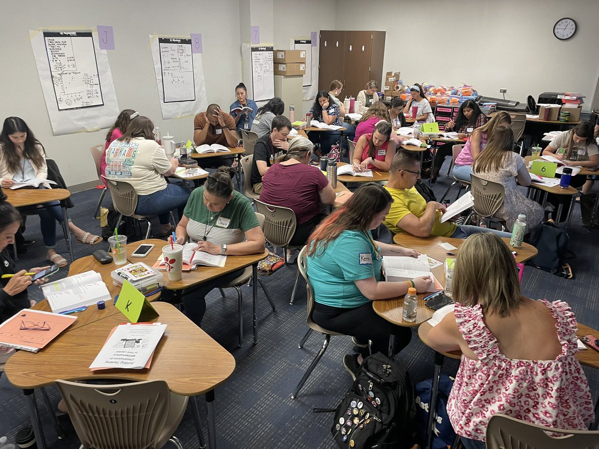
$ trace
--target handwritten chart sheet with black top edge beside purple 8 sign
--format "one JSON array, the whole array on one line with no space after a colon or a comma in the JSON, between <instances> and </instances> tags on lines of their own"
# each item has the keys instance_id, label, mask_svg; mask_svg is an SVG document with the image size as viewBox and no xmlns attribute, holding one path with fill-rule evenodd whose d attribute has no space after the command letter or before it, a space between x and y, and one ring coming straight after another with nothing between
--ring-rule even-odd
<instances>
[{"instance_id":1,"label":"handwritten chart sheet with black top edge beside purple 8 sign","mask_svg":"<svg viewBox=\"0 0 599 449\"><path fill-rule=\"evenodd\" d=\"M165 103L195 101L191 44L191 39L158 39Z\"/></svg>"}]
</instances>

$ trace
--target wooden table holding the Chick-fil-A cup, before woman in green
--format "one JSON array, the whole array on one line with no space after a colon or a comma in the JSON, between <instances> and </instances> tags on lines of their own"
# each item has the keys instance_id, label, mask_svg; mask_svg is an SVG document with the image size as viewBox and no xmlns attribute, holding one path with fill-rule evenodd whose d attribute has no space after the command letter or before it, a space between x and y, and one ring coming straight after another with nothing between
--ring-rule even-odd
<instances>
[{"instance_id":1,"label":"wooden table holding the Chick-fil-A cup, before woman in green","mask_svg":"<svg viewBox=\"0 0 599 449\"><path fill-rule=\"evenodd\" d=\"M133 262L144 262L152 266L162 255L162 247L168 245L167 241L160 239L147 239L135 242L135 248L141 244L153 244L155 247L146 257L131 257L132 250L127 251L127 260ZM181 301L181 297L193 293L201 284L216 279L230 272L237 271L247 266L252 266L252 296L253 296L253 332L254 343L258 342L258 317L256 315L256 298L258 297L258 262L268 256L268 250L259 254L249 254L248 256L227 256L223 268L214 266L198 266L198 269L192 271L183 271L179 281L170 281L166 272L164 273L163 289L173 290L173 296L176 301Z\"/></svg>"}]
</instances>

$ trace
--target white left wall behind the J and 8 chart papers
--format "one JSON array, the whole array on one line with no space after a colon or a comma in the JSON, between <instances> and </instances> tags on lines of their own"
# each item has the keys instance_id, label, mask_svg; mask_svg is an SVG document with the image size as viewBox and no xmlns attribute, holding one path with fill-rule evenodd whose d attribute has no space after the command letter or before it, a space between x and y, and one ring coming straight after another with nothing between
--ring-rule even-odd
<instances>
[{"instance_id":1,"label":"white left wall behind the J and 8 chart papers","mask_svg":"<svg viewBox=\"0 0 599 449\"><path fill-rule=\"evenodd\" d=\"M148 35L201 33L208 103L228 107L235 100L234 88L241 79L237 23L239 0L178 0L168 4L158 0L105 0L101 4L89 0L57 0L51 4L5 0L0 14L5 39L0 48L0 60L4 61L0 71L0 120L22 117L49 157L58 162L69 186L95 181L89 147L104 142L107 130L52 135L28 30L113 26L116 50L108 51L108 60L119 108L135 109L150 117L163 133L187 139L193 135L193 117L162 120Z\"/></svg>"}]
</instances>

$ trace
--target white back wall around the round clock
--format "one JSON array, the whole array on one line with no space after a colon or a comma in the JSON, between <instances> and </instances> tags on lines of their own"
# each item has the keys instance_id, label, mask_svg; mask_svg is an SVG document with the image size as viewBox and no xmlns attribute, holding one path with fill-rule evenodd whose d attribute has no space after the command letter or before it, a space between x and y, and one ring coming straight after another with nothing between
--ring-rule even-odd
<instances>
[{"instance_id":1,"label":"white back wall around the round clock","mask_svg":"<svg viewBox=\"0 0 599 449\"><path fill-rule=\"evenodd\" d=\"M386 31L383 73L401 71L404 83L463 82L496 98L506 88L506 98L521 102L574 91L587 96L583 111L591 108L599 77L597 0L337 0L335 11L337 29ZM397 18L389 20L389 11ZM577 23L567 41L553 37L562 17Z\"/></svg>"}]
</instances>

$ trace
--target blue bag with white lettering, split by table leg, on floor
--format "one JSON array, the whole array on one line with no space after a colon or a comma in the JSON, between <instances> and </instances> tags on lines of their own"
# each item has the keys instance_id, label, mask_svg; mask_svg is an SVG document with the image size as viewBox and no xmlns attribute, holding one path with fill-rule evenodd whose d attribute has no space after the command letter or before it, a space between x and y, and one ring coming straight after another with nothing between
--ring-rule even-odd
<instances>
[{"instance_id":1,"label":"blue bag with white lettering, split by table leg, on floor","mask_svg":"<svg viewBox=\"0 0 599 449\"><path fill-rule=\"evenodd\" d=\"M437 408L435 409L435 432L432 436L431 449L447 449L453 444L455 431L447 415L447 398L451 392L453 380L447 374L441 374L437 394ZM415 386L416 394L416 430L418 431L418 444L426 447L428 437L428 417L431 404L432 379L423 380Z\"/></svg>"}]
</instances>

